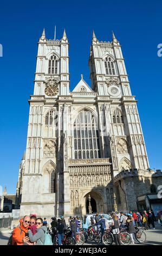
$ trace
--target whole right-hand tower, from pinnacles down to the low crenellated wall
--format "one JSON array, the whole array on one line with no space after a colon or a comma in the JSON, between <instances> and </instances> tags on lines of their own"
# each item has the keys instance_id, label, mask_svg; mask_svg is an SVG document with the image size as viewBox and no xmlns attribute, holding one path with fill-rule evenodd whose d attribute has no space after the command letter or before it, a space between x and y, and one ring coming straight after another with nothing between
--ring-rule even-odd
<instances>
[{"instance_id":1,"label":"whole right-hand tower, from pinnacles down to the low crenellated wall","mask_svg":"<svg viewBox=\"0 0 162 256\"><path fill-rule=\"evenodd\" d=\"M105 115L106 129L100 123L102 145L111 149L114 175L122 169L148 169L137 100L131 94L121 45L114 33L109 42L99 41L93 31L89 67L92 88L99 95L98 111ZM109 146L104 144L107 138Z\"/></svg>"}]
</instances>

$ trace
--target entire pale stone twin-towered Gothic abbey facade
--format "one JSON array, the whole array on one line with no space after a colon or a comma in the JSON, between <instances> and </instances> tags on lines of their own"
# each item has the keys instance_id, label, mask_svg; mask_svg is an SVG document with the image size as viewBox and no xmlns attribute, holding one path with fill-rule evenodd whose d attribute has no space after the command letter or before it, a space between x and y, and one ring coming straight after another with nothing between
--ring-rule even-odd
<instances>
[{"instance_id":1,"label":"entire pale stone twin-towered Gothic abbey facade","mask_svg":"<svg viewBox=\"0 0 162 256\"><path fill-rule=\"evenodd\" d=\"M84 215L89 197L92 212L128 210L120 173L132 169L130 180L148 173L137 101L119 41L114 34L112 42L99 41L93 32L91 85L81 75L72 91L68 49L65 31L61 40L48 40L43 31L38 41L27 148L17 184L21 216Z\"/></svg>"}]
</instances>

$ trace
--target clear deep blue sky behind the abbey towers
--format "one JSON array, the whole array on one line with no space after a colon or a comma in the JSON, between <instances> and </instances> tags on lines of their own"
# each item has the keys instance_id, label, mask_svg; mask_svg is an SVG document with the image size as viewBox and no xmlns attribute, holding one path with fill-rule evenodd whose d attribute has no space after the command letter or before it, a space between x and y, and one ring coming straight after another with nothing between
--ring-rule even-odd
<instances>
[{"instance_id":1,"label":"clear deep blue sky behind the abbey towers","mask_svg":"<svg viewBox=\"0 0 162 256\"><path fill-rule=\"evenodd\" d=\"M37 41L46 37L69 39L70 88L83 74L90 84L88 57L92 30L99 40L120 41L126 69L136 96L150 167L161 160L161 1L7 1L1 3L1 176L0 185L15 193L18 165L27 140L28 99L34 90Z\"/></svg>"}]
</instances>

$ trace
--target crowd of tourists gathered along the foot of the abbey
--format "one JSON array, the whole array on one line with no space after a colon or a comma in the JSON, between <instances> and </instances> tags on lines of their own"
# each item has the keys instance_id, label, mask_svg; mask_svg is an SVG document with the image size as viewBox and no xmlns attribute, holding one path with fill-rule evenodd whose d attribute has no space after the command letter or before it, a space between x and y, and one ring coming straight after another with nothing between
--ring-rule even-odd
<instances>
[{"instance_id":1,"label":"crowd of tourists gathered along the foot of the abbey","mask_svg":"<svg viewBox=\"0 0 162 256\"><path fill-rule=\"evenodd\" d=\"M134 232L135 227L155 229L154 222L158 221L162 225L162 211L158 212L158 219L155 218L152 210L144 212L112 212L111 214L111 228L115 238L115 244L120 245L119 228L127 227L129 234L131 235L132 242L135 242ZM48 233L48 225L51 226L51 236ZM87 216L80 219L79 216L70 216L69 223L66 223L64 217L53 217L50 223L44 218L37 218L36 215L24 216L20 220L20 224L13 230L9 239L9 245L53 245L54 236L58 234L59 245L62 245L64 238L64 230L69 225L74 238L76 240L76 233L82 228L88 231L89 225L96 225L101 229L101 242L102 236L105 230L109 229L109 222L104 215L96 214L95 217L91 216L90 220Z\"/></svg>"}]
</instances>

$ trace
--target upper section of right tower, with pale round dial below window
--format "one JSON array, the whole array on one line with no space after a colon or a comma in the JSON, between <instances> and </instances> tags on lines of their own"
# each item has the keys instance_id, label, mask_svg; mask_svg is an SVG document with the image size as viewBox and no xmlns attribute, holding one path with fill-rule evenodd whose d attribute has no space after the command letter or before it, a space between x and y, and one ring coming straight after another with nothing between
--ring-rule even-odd
<instances>
[{"instance_id":1,"label":"upper section of right tower, with pale round dial below window","mask_svg":"<svg viewBox=\"0 0 162 256\"><path fill-rule=\"evenodd\" d=\"M99 41L93 31L89 57L92 88L99 95L121 97L131 95L128 75L119 41Z\"/></svg>"}]
</instances>

